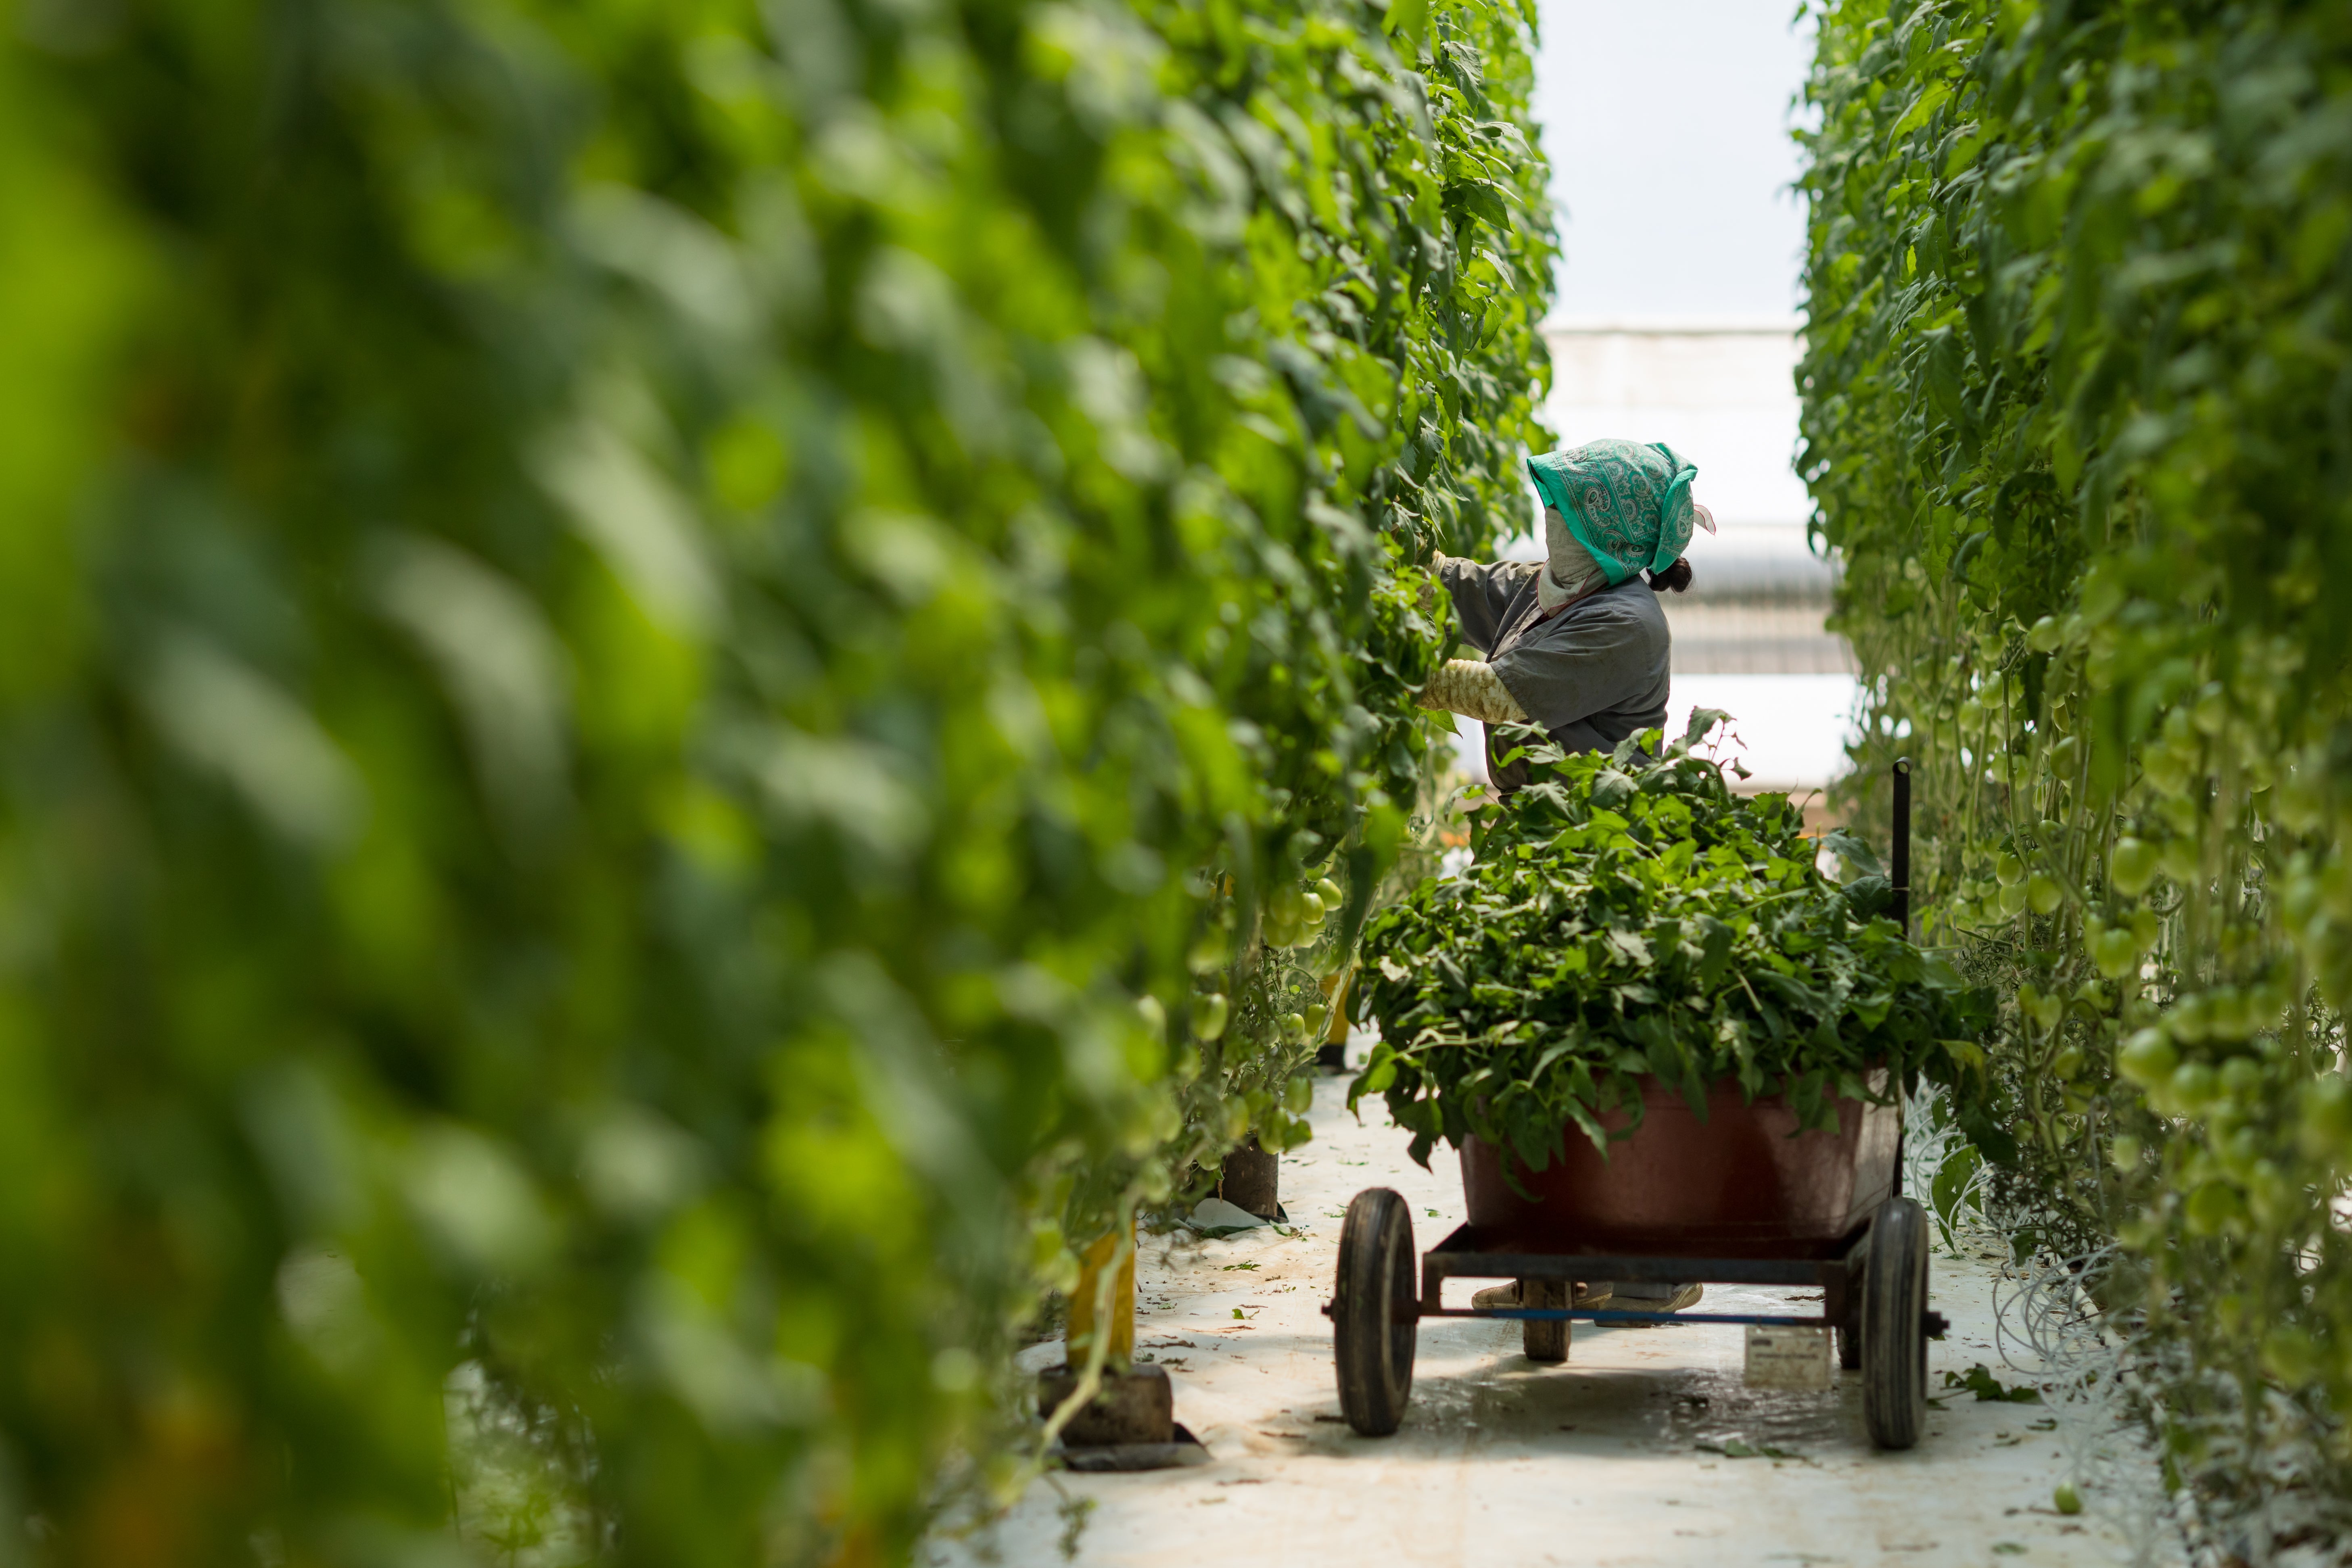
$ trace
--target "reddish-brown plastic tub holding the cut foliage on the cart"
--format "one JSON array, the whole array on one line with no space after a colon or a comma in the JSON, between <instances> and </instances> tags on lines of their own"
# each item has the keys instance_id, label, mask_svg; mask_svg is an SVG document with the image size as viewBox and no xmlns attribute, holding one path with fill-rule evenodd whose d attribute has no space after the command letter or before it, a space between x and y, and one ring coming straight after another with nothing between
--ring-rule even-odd
<instances>
[{"instance_id":1,"label":"reddish-brown plastic tub holding the cut foliage on the cart","mask_svg":"<svg viewBox=\"0 0 2352 1568\"><path fill-rule=\"evenodd\" d=\"M1875 1074L1872 1091L1882 1091ZM1708 1119L1679 1091L1642 1079L1642 1128L1602 1159L1576 1126L1566 1159L1503 1180L1503 1154L1463 1147L1463 1192L1479 1251L1602 1258L1832 1258L1893 1197L1903 1117L1893 1105L1837 1100L1837 1131L1797 1133L1783 1095L1740 1100L1733 1079L1708 1095ZM1602 1126L1618 1131L1618 1110Z\"/></svg>"}]
</instances>

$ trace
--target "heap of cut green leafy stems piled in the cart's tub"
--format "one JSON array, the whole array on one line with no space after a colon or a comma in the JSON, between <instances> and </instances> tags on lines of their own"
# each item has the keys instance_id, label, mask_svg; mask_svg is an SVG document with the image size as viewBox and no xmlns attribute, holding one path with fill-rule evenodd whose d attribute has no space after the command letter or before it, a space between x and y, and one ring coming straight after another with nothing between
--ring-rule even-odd
<instances>
[{"instance_id":1,"label":"heap of cut green leafy stems piled in the cart's tub","mask_svg":"<svg viewBox=\"0 0 2352 1568\"><path fill-rule=\"evenodd\" d=\"M1472 863L1367 926L1381 1044L1350 1103L1383 1095L1414 1159L1479 1138L1541 1171L1571 1128L1606 1152L1651 1077L1700 1117L1736 1079L1837 1126L1839 1098L1976 1060L1990 999L1903 938L1884 875L1830 882L1785 795L1733 795L1691 752L1722 717L1693 712L1656 759L1658 731L1611 755L1526 748L1531 783L1477 813Z\"/></svg>"}]
</instances>

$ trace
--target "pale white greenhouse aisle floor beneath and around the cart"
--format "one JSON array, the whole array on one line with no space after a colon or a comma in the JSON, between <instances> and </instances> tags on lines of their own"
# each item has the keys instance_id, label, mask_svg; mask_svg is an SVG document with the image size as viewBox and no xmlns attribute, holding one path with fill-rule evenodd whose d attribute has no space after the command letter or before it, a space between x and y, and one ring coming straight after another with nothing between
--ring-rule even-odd
<instances>
[{"instance_id":1,"label":"pale white greenhouse aisle floor beneath and around the cart","mask_svg":"<svg viewBox=\"0 0 2352 1568\"><path fill-rule=\"evenodd\" d=\"M1169 1251L1145 1244L1136 1342L1176 1382L1176 1420L1214 1455L1192 1469L1058 1476L1091 1500L1080 1563L1221 1568L1378 1568L1385 1563L2117 1563L2122 1535L2098 1509L2063 1516L2065 1460L2037 1403L1952 1389L1929 1436L1900 1455L1860 1432L1860 1385L1828 1394L1752 1394L1740 1331L1576 1326L1566 1366L1519 1354L1517 1326L1468 1321L1421 1331L1404 1429L1359 1439L1338 1420L1331 1295L1348 1199L1390 1185L1414 1206L1414 1241L1461 1222L1451 1152L1435 1173L1406 1159L1406 1135L1345 1079L1315 1093L1315 1143L1282 1161L1282 1197L1301 1234L1249 1232ZM1931 1347L1940 1373L1987 1363L1992 1272L1983 1258L1933 1260L1933 1300L1955 1328ZM1446 1302L1468 1300L1468 1281ZM1769 1309L1788 1291L1715 1288L1710 1305ZM1058 1345L1025 1366L1058 1361ZM1736 1458L1738 1455L1738 1458ZM1778 1455L1778 1458L1776 1458ZM1035 1483L995 1528L927 1544L920 1561L1061 1561L1065 1512Z\"/></svg>"}]
</instances>

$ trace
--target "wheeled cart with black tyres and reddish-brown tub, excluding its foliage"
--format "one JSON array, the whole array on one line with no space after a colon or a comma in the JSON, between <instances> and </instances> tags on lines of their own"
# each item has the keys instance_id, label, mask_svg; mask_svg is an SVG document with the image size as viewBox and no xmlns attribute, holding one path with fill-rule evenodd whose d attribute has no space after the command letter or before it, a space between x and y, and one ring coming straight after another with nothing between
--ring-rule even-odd
<instances>
[{"instance_id":1,"label":"wheeled cart with black tyres and reddish-brown tub, excluding its foliage","mask_svg":"<svg viewBox=\"0 0 2352 1568\"><path fill-rule=\"evenodd\" d=\"M1884 1084L1875 1086L1884 1093ZM1338 1349L1348 1425L1385 1436L1414 1387L1423 1319L1517 1319L1529 1359L1566 1361L1573 1321L1771 1324L1835 1328L1839 1363L1863 1373L1863 1420L1882 1448L1910 1448L1926 1420L1929 1229L1896 1194L1900 1107L1839 1100L1837 1131L1797 1131L1778 1095L1752 1105L1731 1079L1700 1121L1682 1093L1649 1079L1639 1128L1609 1157L1576 1128L1566 1157L1503 1175L1503 1154L1463 1147L1470 1222L1414 1258L1414 1218L1388 1187L1348 1206L1338 1288L1324 1309ZM1611 1131L1628 1124L1616 1112ZM1517 1279L1517 1307L1446 1307L1446 1279ZM1618 1312L1571 1305L1576 1281L1818 1286L1820 1316Z\"/></svg>"}]
</instances>

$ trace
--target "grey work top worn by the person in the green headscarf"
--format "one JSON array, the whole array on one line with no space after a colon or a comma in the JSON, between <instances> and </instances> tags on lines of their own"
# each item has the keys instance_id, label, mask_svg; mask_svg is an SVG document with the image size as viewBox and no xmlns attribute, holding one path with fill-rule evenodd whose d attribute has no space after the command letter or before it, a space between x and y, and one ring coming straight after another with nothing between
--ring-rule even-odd
<instances>
[{"instance_id":1,"label":"grey work top worn by the person in the green headscarf","mask_svg":"<svg viewBox=\"0 0 2352 1568\"><path fill-rule=\"evenodd\" d=\"M1639 576L1536 621L1541 567L1482 567L1456 555L1439 555L1435 567L1454 595L1463 637L1562 750L1606 752L1639 729L1665 726L1672 635L1658 595ZM1524 762L1496 766L1491 729L1486 771L1498 790L1526 783Z\"/></svg>"}]
</instances>

